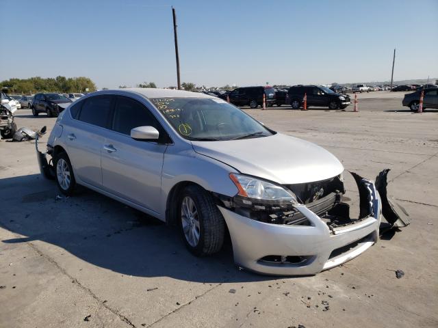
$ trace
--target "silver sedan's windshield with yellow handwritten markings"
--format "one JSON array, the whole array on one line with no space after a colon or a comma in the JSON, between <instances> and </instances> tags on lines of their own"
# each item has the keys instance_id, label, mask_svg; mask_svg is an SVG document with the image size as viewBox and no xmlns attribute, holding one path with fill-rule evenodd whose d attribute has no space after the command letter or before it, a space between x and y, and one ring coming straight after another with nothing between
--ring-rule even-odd
<instances>
[{"instance_id":1,"label":"silver sedan's windshield with yellow handwritten markings","mask_svg":"<svg viewBox=\"0 0 438 328\"><path fill-rule=\"evenodd\" d=\"M188 140L218 141L272 135L268 128L220 98L150 98Z\"/></svg>"}]
</instances>

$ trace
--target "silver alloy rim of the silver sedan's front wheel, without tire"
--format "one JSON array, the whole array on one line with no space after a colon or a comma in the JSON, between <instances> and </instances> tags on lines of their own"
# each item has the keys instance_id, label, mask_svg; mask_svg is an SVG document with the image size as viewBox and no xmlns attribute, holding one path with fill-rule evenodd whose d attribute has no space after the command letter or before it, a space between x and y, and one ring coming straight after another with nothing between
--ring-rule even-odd
<instances>
[{"instance_id":1,"label":"silver alloy rim of the silver sedan's front wheel, without tire","mask_svg":"<svg viewBox=\"0 0 438 328\"><path fill-rule=\"evenodd\" d=\"M201 236L198 210L191 197L185 196L181 202L181 223L185 240L190 246L196 247Z\"/></svg>"}]
</instances>

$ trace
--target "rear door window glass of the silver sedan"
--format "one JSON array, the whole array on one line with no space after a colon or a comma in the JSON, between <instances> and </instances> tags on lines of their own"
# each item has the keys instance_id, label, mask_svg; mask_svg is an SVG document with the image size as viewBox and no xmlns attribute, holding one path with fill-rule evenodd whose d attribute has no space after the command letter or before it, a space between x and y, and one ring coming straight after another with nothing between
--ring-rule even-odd
<instances>
[{"instance_id":1,"label":"rear door window glass of the silver sedan","mask_svg":"<svg viewBox=\"0 0 438 328\"><path fill-rule=\"evenodd\" d=\"M85 100L79 113L79 120L106 128L110 122L112 96L94 96Z\"/></svg>"}]
</instances>

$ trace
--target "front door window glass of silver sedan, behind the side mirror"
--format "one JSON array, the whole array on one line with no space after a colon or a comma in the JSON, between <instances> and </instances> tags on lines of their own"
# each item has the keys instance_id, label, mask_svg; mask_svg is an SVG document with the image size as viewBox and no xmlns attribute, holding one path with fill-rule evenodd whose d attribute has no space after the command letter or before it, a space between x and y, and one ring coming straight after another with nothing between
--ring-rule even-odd
<instances>
[{"instance_id":1,"label":"front door window glass of silver sedan, behind the side mirror","mask_svg":"<svg viewBox=\"0 0 438 328\"><path fill-rule=\"evenodd\" d=\"M138 126L153 126L160 131L159 123L142 103L125 96L118 96L112 130L131 135L131 129Z\"/></svg>"}]
</instances>

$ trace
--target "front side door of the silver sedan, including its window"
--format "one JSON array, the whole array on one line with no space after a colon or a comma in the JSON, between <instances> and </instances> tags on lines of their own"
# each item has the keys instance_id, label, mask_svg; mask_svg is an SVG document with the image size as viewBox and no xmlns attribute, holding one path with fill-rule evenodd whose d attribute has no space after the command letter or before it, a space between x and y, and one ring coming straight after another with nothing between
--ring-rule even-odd
<instances>
[{"instance_id":1,"label":"front side door of the silver sedan, including its window","mask_svg":"<svg viewBox=\"0 0 438 328\"><path fill-rule=\"evenodd\" d=\"M166 133L142 102L116 96L112 131L105 133L102 150L103 188L158 213L167 145L132 139L131 129L138 126L154 126L160 137Z\"/></svg>"}]
</instances>

